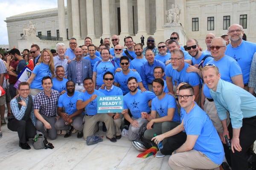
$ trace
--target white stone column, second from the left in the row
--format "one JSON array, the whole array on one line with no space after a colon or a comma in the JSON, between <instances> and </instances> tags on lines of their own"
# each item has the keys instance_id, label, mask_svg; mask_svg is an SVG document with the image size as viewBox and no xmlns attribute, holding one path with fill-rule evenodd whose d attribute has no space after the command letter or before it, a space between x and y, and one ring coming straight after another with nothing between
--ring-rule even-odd
<instances>
[{"instance_id":1,"label":"white stone column, second from the left in the row","mask_svg":"<svg viewBox=\"0 0 256 170\"><path fill-rule=\"evenodd\" d=\"M71 8L72 8L73 37L80 39L81 35L80 35L79 1L72 0L71 4L72 4Z\"/></svg>"}]
</instances>

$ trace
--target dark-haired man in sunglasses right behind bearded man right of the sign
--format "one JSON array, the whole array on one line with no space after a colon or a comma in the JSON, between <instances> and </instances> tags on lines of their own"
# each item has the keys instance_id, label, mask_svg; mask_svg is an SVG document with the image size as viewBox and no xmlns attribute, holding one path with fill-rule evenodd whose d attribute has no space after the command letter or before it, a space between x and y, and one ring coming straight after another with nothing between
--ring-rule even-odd
<instances>
[{"instance_id":1,"label":"dark-haired man in sunglasses right behind bearded man right of the sign","mask_svg":"<svg viewBox=\"0 0 256 170\"><path fill-rule=\"evenodd\" d=\"M144 92L146 89L144 88L142 84L142 79L138 72L132 71L130 66L130 61L127 56L122 56L120 58L120 66L122 68L121 72L116 72L115 74L115 86L119 86L122 89L123 95L126 95L129 92L128 86L127 86L127 80L130 77L135 77L138 82L138 86L140 87L141 91Z\"/></svg>"}]
</instances>

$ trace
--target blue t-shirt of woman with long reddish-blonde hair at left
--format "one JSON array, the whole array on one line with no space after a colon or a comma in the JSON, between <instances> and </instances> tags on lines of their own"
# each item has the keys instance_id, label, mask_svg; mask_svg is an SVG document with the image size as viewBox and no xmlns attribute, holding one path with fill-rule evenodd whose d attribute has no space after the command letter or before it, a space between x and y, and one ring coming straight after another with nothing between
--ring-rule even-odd
<instances>
[{"instance_id":1,"label":"blue t-shirt of woman with long reddish-blonde hair at left","mask_svg":"<svg viewBox=\"0 0 256 170\"><path fill-rule=\"evenodd\" d=\"M35 74L35 78L30 84L31 89L43 89L42 87L42 79L45 76L52 77L52 73L49 69L49 65L40 63L33 69L33 72Z\"/></svg>"}]
</instances>

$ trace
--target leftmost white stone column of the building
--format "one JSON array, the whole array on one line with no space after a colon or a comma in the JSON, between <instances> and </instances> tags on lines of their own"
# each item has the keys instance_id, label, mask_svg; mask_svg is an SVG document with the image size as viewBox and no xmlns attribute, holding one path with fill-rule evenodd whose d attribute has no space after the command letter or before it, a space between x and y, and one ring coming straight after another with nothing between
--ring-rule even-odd
<instances>
[{"instance_id":1,"label":"leftmost white stone column of the building","mask_svg":"<svg viewBox=\"0 0 256 170\"><path fill-rule=\"evenodd\" d=\"M62 37L63 40L67 40L64 0L58 0L58 26L60 37Z\"/></svg>"}]
</instances>

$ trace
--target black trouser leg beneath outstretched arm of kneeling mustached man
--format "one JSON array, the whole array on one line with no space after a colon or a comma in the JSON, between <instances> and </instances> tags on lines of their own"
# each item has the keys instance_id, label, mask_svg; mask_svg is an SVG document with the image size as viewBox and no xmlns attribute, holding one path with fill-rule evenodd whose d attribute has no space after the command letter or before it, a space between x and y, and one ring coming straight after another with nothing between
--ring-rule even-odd
<instances>
[{"instance_id":1,"label":"black trouser leg beneath outstretched arm of kneeling mustached man","mask_svg":"<svg viewBox=\"0 0 256 170\"><path fill-rule=\"evenodd\" d=\"M165 143L163 144L163 149L160 152L163 155L172 155L174 150L177 150L182 144L186 141L186 133L181 132L177 135L170 136L166 138Z\"/></svg>"}]
</instances>

